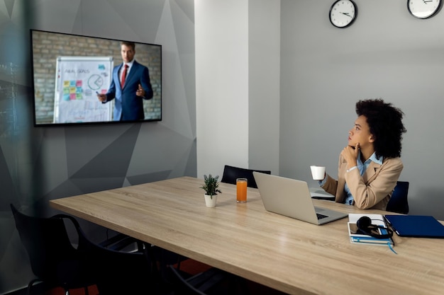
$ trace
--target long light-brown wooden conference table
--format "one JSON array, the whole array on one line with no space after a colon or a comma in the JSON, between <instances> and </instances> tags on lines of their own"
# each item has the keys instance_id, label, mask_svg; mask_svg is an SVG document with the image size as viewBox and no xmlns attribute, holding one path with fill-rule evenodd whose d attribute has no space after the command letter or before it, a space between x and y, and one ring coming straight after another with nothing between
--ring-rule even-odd
<instances>
[{"instance_id":1,"label":"long light-brown wooden conference table","mask_svg":"<svg viewBox=\"0 0 444 295\"><path fill-rule=\"evenodd\" d=\"M176 178L50 201L51 207L289 294L444 294L444 241L394 237L356 245L347 221L316 226L265 211L259 192L235 202L221 183L206 208L203 180ZM314 200L348 213L377 213Z\"/></svg>"}]
</instances>

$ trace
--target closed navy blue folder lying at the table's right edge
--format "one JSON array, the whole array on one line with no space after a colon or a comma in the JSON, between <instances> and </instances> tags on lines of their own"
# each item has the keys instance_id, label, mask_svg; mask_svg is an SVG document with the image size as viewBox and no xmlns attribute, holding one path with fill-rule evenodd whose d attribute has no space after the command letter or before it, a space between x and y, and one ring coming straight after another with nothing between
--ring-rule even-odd
<instances>
[{"instance_id":1,"label":"closed navy blue folder lying at the table's right edge","mask_svg":"<svg viewBox=\"0 0 444 295\"><path fill-rule=\"evenodd\" d=\"M433 216L385 215L398 236L416 238L444 238L444 226Z\"/></svg>"}]
</instances>

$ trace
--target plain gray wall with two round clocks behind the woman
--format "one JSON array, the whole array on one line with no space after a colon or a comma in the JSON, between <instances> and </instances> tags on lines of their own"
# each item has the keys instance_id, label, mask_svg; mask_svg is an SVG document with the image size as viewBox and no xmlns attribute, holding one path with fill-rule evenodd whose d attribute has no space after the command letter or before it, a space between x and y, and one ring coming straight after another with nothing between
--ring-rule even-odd
<instances>
[{"instance_id":1,"label":"plain gray wall with two round clocks behind the woman","mask_svg":"<svg viewBox=\"0 0 444 295\"><path fill-rule=\"evenodd\" d=\"M410 213L444 219L444 11L419 20L406 1L355 0L355 23L338 29L333 2L281 2L280 174L315 186L314 164L336 177L355 102L383 98L405 113Z\"/></svg>"}]
</instances>

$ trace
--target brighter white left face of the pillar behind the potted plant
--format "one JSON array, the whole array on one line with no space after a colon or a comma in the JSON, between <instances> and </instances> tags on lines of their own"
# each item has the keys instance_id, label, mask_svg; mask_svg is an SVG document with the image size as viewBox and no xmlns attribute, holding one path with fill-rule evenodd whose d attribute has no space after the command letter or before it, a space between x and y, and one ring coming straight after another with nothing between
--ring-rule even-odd
<instances>
[{"instance_id":1,"label":"brighter white left face of the pillar behind the potted plant","mask_svg":"<svg viewBox=\"0 0 444 295\"><path fill-rule=\"evenodd\" d=\"M197 176L248 167L248 0L194 1Z\"/></svg>"}]
</instances>

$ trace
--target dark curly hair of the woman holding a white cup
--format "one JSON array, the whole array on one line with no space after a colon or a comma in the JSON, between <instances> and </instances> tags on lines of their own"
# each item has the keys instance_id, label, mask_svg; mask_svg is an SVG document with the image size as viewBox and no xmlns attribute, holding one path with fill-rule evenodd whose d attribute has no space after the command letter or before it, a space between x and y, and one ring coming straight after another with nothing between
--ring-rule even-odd
<instances>
[{"instance_id":1,"label":"dark curly hair of the woman holding a white cup","mask_svg":"<svg viewBox=\"0 0 444 295\"><path fill-rule=\"evenodd\" d=\"M356 113L367 118L377 158L401 156L402 134L407 131L402 124L404 112L382 99L369 99L356 103Z\"/></svg>"}]
</instances>

